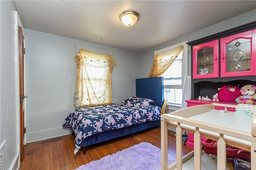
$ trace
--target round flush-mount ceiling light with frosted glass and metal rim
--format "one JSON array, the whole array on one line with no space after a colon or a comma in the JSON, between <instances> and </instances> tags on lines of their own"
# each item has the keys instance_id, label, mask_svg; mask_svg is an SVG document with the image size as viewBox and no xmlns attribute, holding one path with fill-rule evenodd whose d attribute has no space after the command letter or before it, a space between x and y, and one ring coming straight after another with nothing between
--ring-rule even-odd
<instances>
[{"instance_id":1,"label":"round flush-mount ceiling light with frosted glass and metal rim","mask_svg":"<svg viewBox=\"0 0 256 170\"><path fill-rule=\"evenodd\" d=\"M124 25L132 26L140 19L140 14L135 11L124 11L119 18Z\"/></svg>"}]
</instances>

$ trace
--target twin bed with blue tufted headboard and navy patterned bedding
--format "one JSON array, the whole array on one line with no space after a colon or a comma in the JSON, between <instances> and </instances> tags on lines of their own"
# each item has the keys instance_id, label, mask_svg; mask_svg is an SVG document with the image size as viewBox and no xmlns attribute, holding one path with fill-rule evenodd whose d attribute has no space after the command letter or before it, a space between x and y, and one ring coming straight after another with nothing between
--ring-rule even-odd
<instances>
[{"instance_id":1,"label":"twin bed with blue tufted headboard and navy patterned bedding","mask_svg":"<svg viewBox=\"0 0 256 170\"><path fill-rule=\"evenodd\" d=\"M131 99L136 98L148 99L146 105L149 105L137 107L138 103L131 104ZM122 104L75 109L62 127L72 129L76 135L74 153L82 148L86 154L86 146L129 134L133 137L138 131L160 126L163 106L163 77L139 78L136 79L135 97L127 98Z\"/></svg>"}]
</instances>

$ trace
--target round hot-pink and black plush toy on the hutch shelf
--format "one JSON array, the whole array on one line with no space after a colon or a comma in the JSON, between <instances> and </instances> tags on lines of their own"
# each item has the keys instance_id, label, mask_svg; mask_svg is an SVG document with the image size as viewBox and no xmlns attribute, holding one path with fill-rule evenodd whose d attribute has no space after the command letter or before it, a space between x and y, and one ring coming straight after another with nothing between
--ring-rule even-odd
<instances>
[{"instance_id":1,"label":"round hot-pink and black plush toy on the hutch shelf","mask_svg":"<svg viewBox=\"0 0 256 170\"><path fill-rule=\"evenodd\" d=\"M231 84L227 84L218 88L218 99L220 102L235 102L240 93L240 88Z\"/></svg>"}]
</instances>

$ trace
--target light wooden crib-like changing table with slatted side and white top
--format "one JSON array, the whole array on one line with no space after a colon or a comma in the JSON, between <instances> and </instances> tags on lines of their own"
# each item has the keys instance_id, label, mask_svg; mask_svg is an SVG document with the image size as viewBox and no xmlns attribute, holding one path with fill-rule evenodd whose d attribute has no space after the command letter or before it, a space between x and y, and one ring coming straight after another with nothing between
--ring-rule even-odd
<instances>
[{"instance_id":1,"label":"light wooden crib-like changing table with slatted side and white top","mask_svg":"<svg viewBox=\"0 0 256 170\"><path fill-rule=\"evenodd\" d=\"M224 110L215 109L216 106ZM170 169L227 169L226 145L250 152L251 169L256 170L256 109L252 117L227 111L230 104L203 104L161 115L161 168ZM167 128L176 128L176 162L167 163ZM194 150L182 157L182 131L194 133ZM217 142L217 162L214 164L202 150L201 136Z\"/></svg>"}]
</instances>

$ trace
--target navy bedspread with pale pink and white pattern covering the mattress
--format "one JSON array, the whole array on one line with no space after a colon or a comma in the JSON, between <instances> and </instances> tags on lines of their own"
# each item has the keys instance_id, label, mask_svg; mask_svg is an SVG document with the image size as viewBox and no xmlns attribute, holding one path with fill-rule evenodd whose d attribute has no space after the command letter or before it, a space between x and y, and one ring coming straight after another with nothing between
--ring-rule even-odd
<instances>
[{"instance_id":1,"label":"navy bedspread with pale pink and white pattern covering the mattress","mask_svg":"<svg viewBox=\"0 0 256 170\"><path fill-rule=\"evenodd\" d=\"M88 136L159 119L159 106L138 108L112 104L75 109L65 119L62 127L72 129L76 135L75 144L81 147L82 141Z\"/></svg>"}]
</instances>

